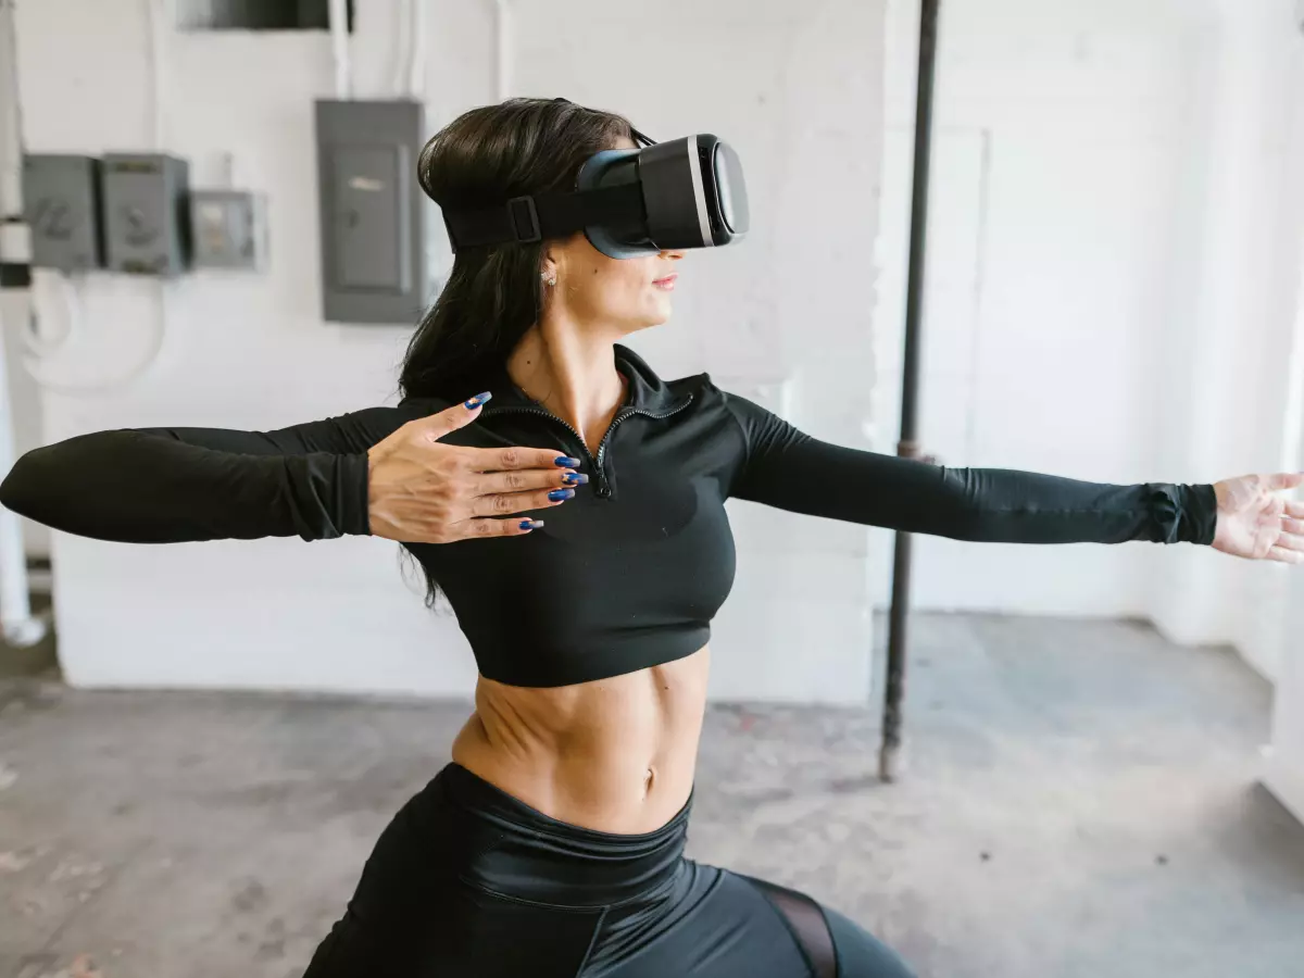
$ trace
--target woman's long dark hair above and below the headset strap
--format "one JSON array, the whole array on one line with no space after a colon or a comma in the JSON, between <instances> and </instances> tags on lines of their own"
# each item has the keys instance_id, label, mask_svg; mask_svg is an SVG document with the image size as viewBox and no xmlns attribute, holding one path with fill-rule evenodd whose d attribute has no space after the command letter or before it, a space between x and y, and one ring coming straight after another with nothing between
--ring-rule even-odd
<instances>
[{"instance_id":1,"label":"woman's long dark hair above and below the headset strap","mask_svg":"<svg viewBox=\"0 0 1304 978\"><path fill-rule=\"evenodd\" d=\"M567 190L584 160L631 138L629 120L565 100L510 99L446 125L417 160L421 189L441 207L473 209ZM460 399L502 364L539 319L542 244L468 248L408 343L404 398Z\"/></svg>"}]
</instances>

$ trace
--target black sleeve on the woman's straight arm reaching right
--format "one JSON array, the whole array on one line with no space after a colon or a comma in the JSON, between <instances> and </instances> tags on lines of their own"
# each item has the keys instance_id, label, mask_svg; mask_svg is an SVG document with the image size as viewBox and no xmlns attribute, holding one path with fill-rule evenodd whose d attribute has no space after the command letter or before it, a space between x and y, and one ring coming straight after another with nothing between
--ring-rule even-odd
<instances>
[{"instance_id":1,"label":"black sleeve on the woman's straight arm reaching right","mask_svg":"<svg viewBox=\"0 0 1304 978\"><path fill-rule=\"evenodd\" d=\"M732 496L911 533L1013 544L1210 544L1211 485L1108 485L996 468L947 468L816 441L734 395L743 456Z\"/></svg>"}]
</instances>

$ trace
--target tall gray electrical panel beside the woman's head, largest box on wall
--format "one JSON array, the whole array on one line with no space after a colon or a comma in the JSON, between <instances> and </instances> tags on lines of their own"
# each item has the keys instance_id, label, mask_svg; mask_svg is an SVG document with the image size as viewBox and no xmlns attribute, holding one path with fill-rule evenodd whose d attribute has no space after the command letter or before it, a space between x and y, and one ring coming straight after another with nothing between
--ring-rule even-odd
<instances>
[{"instance_id":1,"label":"tall gray electrical panel beside the woman's head, largest box on wall","mask_svg":"<svg viewBox=\"0 0 1304 978\"><path fill-rule=\"evenodd\" d=\"M420 102L318 102L322 306L330 322L412 323L426 299Z\"/></svg>"}]
</instances>

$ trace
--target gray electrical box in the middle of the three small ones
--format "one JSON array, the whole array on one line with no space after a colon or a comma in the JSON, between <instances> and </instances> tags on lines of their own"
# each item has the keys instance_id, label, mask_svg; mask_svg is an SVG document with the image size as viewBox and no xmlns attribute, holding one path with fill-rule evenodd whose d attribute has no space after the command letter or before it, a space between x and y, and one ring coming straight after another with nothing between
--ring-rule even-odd
<instances>
[{"instance_id":1,"label":"gray electrical box in the middle of the three small ones","mask_svg":"<svg viewBox=\"0 0 1304 978\"><path fill-rule=\"evenodd\" d=\"M190 256L189 166L159 154L107 154L104 250L132 275L180 275Z\"/></svg>"}]
</instances>

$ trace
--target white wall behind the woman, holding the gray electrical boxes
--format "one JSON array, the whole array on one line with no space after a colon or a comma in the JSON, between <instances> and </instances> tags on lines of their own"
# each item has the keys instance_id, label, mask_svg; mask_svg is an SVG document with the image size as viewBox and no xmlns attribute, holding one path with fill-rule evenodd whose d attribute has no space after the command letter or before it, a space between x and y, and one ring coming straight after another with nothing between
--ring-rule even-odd
<instances>
[{"instance_id":1,"label":"white wall behind the woman, holding the gray electrical boxes","mask_svg":"<svg viewBox=\"0 0 1304 978\"><path fill-rule=\"evenodd\" d=\"M398 7L359 3L359 95L390 89ZM493 4L428 7L433 130L493 98ZM515 93L621 110L660 136L717 132L747 160L756 232L686 262L675 323L636 346L668 376L709 369L782 402L812 432L857 443L870 387L882 4L669 0L656 16L600 0L512 8ZM143 0L23 4L18 37L30 150L149 145ZM190 275L163 289L90 276L86 335L47 365L51 374L129 369L160 309L167 344L121 393L47 393L46 438L154 424L267 428L393 400L408 330L325 325L318 314L312 99L330 93L327 38L172 34L167 47L166 146L192 160L198 183L216 179L223 151L236 153L241 181L270 197L271 271ZM844 396L849 386L862 394ZM762 519L746 506L737 523L742 567L719 621L713 695L863 702L865 535ZM385 541L145 548L56 535L53 558L74 685L471 689L454 622L432 619L400 585Z\"/></svg>"}]
</instances>

